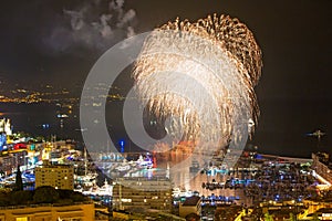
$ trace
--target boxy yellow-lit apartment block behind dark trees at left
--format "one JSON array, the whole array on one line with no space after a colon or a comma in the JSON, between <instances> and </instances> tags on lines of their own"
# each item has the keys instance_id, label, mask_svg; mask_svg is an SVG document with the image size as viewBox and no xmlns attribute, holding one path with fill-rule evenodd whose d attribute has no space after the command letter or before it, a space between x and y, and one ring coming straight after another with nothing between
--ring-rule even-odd
<instances>
[{"instance_id":1,"label":"boxy yellow-lit apartment block behind dark trees at left","mask_svg":"<svg viewBox=\"0 0 332 221\"><path fill-rule=\"evenodd\" d=\"M55 189L74 189L74 168L70 165L51 165L48 160L34 169L35 188L51 186Z\"/></svg>"}]
</instances>

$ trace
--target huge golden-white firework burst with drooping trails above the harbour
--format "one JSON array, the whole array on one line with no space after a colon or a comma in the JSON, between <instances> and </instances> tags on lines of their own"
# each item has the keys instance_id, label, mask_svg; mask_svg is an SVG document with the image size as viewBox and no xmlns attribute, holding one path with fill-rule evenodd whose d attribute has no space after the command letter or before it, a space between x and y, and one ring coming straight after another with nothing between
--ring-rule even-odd
<instances>
[{"instance_id":1,"label":"huge golden-white firework burst with drooping trails above the harbour","mask_svg":"<svg viewBox=\"0 0 332 221\"><path fill-rule=\"evenodd\" d=\"M214 14L155 29L133 77L147 110L169 119L168 134L225 147L243 128L253 130L259 115L253 87L261 66L251 31L238 19Z\"/></svg>"}]
</instances>

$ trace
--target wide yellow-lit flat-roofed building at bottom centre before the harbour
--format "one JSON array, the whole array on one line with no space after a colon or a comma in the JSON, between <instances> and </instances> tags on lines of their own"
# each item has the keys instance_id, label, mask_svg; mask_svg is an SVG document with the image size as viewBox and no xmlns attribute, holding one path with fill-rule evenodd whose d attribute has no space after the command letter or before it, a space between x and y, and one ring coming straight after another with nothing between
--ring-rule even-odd
<instances>
[{"instance_id":1,"label":"wide yellow-lit flat-roofed building at bottom centre before the harbour","mask_svg":"<svg viewBox=\"0 0 332 221\"><path fill-rule=\"evenodd\" d=\"M113 208L170 212L172 182L167 178L118 178L113 187Z\"/></svg>"}]
</instances>

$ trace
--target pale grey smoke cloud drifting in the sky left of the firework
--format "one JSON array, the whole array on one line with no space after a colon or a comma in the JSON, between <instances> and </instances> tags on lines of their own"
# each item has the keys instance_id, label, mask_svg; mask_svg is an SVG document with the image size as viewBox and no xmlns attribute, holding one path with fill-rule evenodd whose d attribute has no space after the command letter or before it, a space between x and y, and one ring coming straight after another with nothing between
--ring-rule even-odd
<instances>
[{"instance_id":1,"label":"pale grey smoke cloud drifting in the sky left of the firework","mask_svg":"<svg viewBox=\"0 0 332 221\"><path fill-rule=\"evenodd\" d=\"M43 43L53 53L83 48L104 52L114 43L135 34L136 12L124 9L124 0L84 2L77 9L64 9L61 23L55 24Z\"/></svg>"}]
</instances>

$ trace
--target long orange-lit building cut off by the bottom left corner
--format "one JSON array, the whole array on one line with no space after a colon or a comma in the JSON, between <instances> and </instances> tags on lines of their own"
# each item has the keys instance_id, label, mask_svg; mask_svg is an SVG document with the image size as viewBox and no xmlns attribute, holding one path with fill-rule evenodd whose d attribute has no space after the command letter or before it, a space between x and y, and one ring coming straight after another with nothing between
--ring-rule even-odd
<instances>
[{"instance_id":1,"label":"long orange-lit building cut off by the bottom left corner","mask_svg":"<svg viewBox=\"0 0 332 221\"><path fill-rule=\"evenodd\" d=\"M0 221L53 221L53 220L94 220L94 204L80 203L72 206L19 206L0 208Z\"/></svg>"}]
</instances>

